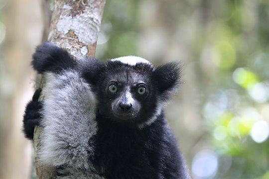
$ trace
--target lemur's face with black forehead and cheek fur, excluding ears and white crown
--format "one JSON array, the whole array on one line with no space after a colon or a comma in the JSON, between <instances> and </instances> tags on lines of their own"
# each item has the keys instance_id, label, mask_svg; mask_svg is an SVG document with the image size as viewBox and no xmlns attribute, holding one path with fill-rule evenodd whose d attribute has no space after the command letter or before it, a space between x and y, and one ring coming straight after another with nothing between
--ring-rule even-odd
<instances>
[{"instance_id":1,"label":"lemur's face with black forehead and cheek fur, excluding ears and white crown","mask_svg":"<svg viewBox=\"0 0 269 179\"><path fill-rule=\"evenodd\" d=\"M150 74L153 68L140 64L128 66L108 63L98 92L101 114L127 123L139 123L155 109L156 89ZM146 71L145 71L146 70Z\"/></svg>"}]
</instances>

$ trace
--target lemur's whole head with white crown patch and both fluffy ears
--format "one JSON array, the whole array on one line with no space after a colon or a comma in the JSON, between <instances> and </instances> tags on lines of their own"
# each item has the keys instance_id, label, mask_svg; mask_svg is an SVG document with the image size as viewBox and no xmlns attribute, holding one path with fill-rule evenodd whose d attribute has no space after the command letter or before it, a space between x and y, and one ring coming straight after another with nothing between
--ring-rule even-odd
<instances>
[{"instance_id":1,"label":"lemur's whole head with white crown patch and both fluffy ears","mask_svg":"<svg viewBox=\"0 0 269 179\"><path fill-rule=\"evenodd\" d=\"M127 56L106 63L88 61L83 77L96 93L102 115L141 128L160 115L179 85L179 72L175 63L155 68L145 59Z\"/></svg>"}]
</instances>

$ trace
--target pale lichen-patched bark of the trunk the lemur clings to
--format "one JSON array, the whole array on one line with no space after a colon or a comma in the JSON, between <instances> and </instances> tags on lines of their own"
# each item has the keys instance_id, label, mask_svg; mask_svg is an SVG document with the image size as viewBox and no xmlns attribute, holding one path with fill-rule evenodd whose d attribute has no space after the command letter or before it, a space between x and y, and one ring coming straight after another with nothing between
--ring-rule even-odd
<instances>
[{"instance_id":1,"label":"pale lichen-patched bark of the trunk the lemur clings to","mask_svg":"<svg viewBox=\"0 0 269 179\"><path fill-rule=\"evenodd\" d=\"M54 0L48 41L65 48L77 60L94 57L105 3L106 0ZM42 79L41 88L45 85ZM55 168L38 162L42 130L36 127L34 131L36 174L39 179L51 179Z\"/></svg>"}]
</instances>

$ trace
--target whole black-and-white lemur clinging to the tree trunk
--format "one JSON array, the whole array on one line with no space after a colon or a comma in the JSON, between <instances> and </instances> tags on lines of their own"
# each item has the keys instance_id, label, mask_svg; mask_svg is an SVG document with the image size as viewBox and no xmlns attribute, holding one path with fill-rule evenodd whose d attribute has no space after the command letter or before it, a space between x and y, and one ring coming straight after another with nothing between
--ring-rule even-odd
<instances>
[{"instance_id":1,"label":"whole black-and-white lemur clinging to the tree trunk","mask_svg":"<svg viewBox=\"0 0 269 179\"><path fill-rule=\"evenodd\" d=\"M57 168L57 178L190 179L163 113L179 85L178 65L155 68L134 56L76 62L50 43L37 47L32 65L45 74L44 100L37 90L24 133L32 139L34 125L44 127L40 160Z\"/></svg>"}]
</instances>

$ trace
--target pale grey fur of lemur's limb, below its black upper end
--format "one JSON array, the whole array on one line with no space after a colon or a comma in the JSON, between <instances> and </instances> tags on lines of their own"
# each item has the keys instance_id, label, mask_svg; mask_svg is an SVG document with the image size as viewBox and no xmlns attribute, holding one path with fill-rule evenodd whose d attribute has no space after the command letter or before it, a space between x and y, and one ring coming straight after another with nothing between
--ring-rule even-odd
<instances>
[{"instance_id":1,"label":"pale grey fur of lemur's limb, below its black upper end","mask_svg":"<svg viewBox=\"0 0 269 179\"><path fill-rule=\"evenodd\" d=\"M62 179L103 179L92 174L89 142L97 133L96 99L79 72L46 73L42 111L40 161L48 166L67 166ZM62 171L63 172L63 171ZM95 176L95 177L91 177Z\"/></svg>"}]
</instances>

